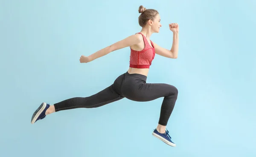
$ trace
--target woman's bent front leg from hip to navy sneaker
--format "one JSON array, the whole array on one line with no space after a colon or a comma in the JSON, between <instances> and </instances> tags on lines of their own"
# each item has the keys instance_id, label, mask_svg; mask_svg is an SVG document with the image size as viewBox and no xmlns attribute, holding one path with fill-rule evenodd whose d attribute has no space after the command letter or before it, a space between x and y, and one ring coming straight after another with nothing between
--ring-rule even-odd
<instances>
[{"instance_id":1,"label":"woman's bent front leg from hip to navy sneaker","mask_svg":"<svg viewBox=\"0 0 256 157\"><path fill-rule=\"evenodd\" d=\"M163 97L158 126L152 134L168 145L176 146L172 142L168 130L166 131L166 125L175 106L178 90L170 84L146 83L146 78L146 76L140 74L126 73L122 85L122 94L125 98L137 102L147 102Z\"/></svg>"}]
</instances>

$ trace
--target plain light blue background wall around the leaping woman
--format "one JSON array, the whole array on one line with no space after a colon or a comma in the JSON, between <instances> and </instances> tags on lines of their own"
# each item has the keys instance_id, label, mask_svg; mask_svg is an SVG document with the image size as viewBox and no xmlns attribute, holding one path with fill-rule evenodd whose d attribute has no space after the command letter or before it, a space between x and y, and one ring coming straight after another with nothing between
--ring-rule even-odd
<instances>
[{"instance_id":1,"label":"plain light blue background wall around the leaping woman","mask_svg":"<svg viewBox=\"0 0 256 157\"><path fill-rule=\"evenodd\" d=\"M151 135L163 99L119 102L51 114L30 124L41 104L90 96L128 70L129 48L81 64L140 32L140 5L157 9L162 28L151 40L172 46L148 82L179 90L167 125L173 148ZM256 3L253 0L1 0L2 157L255 157Z\"/></svg>"}]
</instances>

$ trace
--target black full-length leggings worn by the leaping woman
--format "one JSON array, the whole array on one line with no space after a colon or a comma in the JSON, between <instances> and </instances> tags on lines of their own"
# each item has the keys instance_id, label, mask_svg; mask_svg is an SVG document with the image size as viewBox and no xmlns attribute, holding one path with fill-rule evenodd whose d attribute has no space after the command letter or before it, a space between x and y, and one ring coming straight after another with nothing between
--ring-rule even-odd
<instances>
[{"instance_id":1,"label":"black full-length leggings worn by the leaping woman","mask_svg":"<svg viewBox=\"0 0 256 157\"><path fill-rule=\"evenodd\" d=\"M111 86L88 97L75 97L54 104L55 111L74 108L98 108L127 98L137 102L147 102L164 97L160 110L160 125L167 125L177 100L178 90L170 84L146 83L147 76L140 74L120 75Z\"/></svg>"}]
</instances>

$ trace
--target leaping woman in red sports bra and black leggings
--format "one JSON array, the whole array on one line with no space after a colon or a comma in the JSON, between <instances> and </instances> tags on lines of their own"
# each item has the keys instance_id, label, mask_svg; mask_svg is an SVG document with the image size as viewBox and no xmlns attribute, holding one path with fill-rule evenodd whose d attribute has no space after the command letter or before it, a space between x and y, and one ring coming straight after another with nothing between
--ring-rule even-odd
<instances>
[{"instance_id":1,"label":"leaping woman in red sports bra and black leggings","mask_svg":"<svg viewBox=\"0 0 256 157\"><path fill-rule=\"evenodd\" d=\"M31 119L32 124L39 119L44 119L46 115L60 110L98 108L123 98L146 102L164 97L159 122L152 134L168 145L176 146L168 134L169 131L166 130L166 125L175 106L178 90L170 84L146 83L146 79L155 53L168 58L177 58L179 27L177 23L169 24L169 28L173 32L172 49L164 49L150 40L152 33L158 33L161 27L160 15L157 10L145 9L143 6L140 6L139 13L141 13L139 16L139 24L142 27L139 33L105 47L90 56L82 55L80 57L81 63L87 63L117 49L130 47L131 55L128 71L116 78L109 87L92 96L71 98L54 105L43 102L34 112Z\"/></svg>"}]
</instances>

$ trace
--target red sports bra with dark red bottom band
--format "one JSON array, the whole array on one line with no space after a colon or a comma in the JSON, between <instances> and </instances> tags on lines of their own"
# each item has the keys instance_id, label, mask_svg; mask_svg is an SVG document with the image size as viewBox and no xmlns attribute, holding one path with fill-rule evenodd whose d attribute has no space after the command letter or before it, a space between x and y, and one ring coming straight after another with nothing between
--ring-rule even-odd
<instances>
[{"instance_id":1,"label":"red sports bra with dark red bottom band","mask_svg":"<svg viewBox=\"0 0 256 157\"><path fill-rule=\"evenodd\" d=\"M151 66L151 63L155 56L155 49L154 44L152 41L152 47L149 45L147 38L139 32L143 36L143 41L145 44L145 48L141 51L135 51L134 49L131 49L131 55L130 55L130 67L133 68L149 68Z\"/></svg>"}]
</instances>

